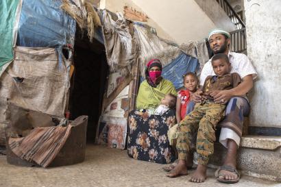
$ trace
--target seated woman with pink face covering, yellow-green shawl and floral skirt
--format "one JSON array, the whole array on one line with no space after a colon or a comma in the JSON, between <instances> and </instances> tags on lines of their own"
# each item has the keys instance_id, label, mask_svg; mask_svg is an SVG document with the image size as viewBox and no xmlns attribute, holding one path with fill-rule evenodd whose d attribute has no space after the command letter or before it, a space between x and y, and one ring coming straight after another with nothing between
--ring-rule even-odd
<instances>
[{"instance_id":1,"label":"seated woman with pink face covering, yellow-green shawl and floral skirt","mask_svg":"<svg viewBox=\"0 0 281 187\"><path fill-rule=\"evenodd\" d=\"M160 60L148 62L145 81L140 84L136 98L137 110L130 112L127 153L134 159L167 164L173 161L167 132L175 124L175 110L162 115L150 114L164 95L177 95L177 92L170 81L161 77L161 72Z\"/></svg>"}]
</instances>

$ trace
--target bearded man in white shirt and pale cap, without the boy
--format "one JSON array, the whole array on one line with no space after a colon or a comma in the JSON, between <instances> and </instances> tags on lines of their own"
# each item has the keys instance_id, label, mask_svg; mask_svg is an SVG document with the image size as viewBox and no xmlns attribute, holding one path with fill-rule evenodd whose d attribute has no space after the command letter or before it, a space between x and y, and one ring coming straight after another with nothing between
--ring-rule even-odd
<instances>
[{"instance_id":1,"label":"bearded man in white shirt and pale cap, without the boy","mask_svg":"<svg viewBox=\"0 0 281 187\"><path fill-rule=\"evenodd\" d=\"M228 149L225 156L223 166L216 171L216 177L219 182L235 183L239 181L239 173L236 171L236 153L239 148L240 139L242 136L243 116L249 114L249 103L245 95L253 87L253 79L257 77L257 73L247 58L242 53L234 53L230 51L230 34L222 29L214 29L210 32L208 37L210 48L213 53L225 53L228 55L232 70L230 73L238 73L242 82L239 86L230 90L221 90L213 94L215 102L228 103L225 109L225 119L221 121L221 135L219 142ZM204 65L201 75L200 84L208 75L215 75L211 60ZM201 90L193 95L194 101L202 101L205 99L201 96ZM241 115L243 114L243 115ZM186 175L186 160L180 160L178 165L167 175L169 177L177 177L179 175ZM195 172L191 177L191 182L204 182L206 175L204 171Z\"/></svg>"}]
</instances>

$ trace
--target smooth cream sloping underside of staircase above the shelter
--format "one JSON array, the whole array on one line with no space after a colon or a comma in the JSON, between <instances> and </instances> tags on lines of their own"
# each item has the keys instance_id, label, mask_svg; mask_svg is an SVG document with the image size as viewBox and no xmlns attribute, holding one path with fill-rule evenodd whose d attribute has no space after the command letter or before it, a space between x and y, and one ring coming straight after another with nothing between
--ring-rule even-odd
<instances>
[{"instance_id":1,"label":"smooth cream sloping underside of staircase above the shelter","mask_svg":"<svg viewBox=\"0 0 281 187\"><path fill-rule=\"evenodd\" d=\"M193 0L132 0L179 44L201 40L216 27Z\"/></svg>"}]
</instances>

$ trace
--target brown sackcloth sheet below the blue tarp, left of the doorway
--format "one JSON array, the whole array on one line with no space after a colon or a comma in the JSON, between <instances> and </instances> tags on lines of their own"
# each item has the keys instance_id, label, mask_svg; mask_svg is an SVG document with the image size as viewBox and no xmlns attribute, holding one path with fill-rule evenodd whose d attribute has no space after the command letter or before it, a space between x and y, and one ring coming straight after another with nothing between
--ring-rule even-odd
<instances>
[{"instance_id":1,"label":"brown sackcloth sheet below the blue tarp, left of the doorway","mask_svg":"<svg viewBox=\"0 0 281 187\"><path fill-rule=\"evenodd\" d=\"M14 61L0 77L0 97L21 108L63 117L70 62L62 57L60 64L58 55L53 48L14 48Z\"/></svg>"}]
</instances>

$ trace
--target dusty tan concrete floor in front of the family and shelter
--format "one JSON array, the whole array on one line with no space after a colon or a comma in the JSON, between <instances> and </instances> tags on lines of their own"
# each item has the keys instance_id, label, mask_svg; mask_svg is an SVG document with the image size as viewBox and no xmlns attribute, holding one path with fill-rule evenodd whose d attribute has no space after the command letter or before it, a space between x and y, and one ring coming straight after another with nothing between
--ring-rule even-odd
<instances>
[{"instance_id":1,"label":"dusty tan concrete floor in front of the family and shelter","mask_svg":"<svg viewBox=\"0 0 281 187\"><path fill-rule=\"evenodd\" d=\"M84 162L50 169L13 166L1 155L0 186L281 186L245 175L237 184L221 184L215 180L213 169L208 169L206 182L193 184L188 182L188 175L165 177L162 166L129 158L126 151L97 145L87 146Z\"/></svg>"}]
</instances>

